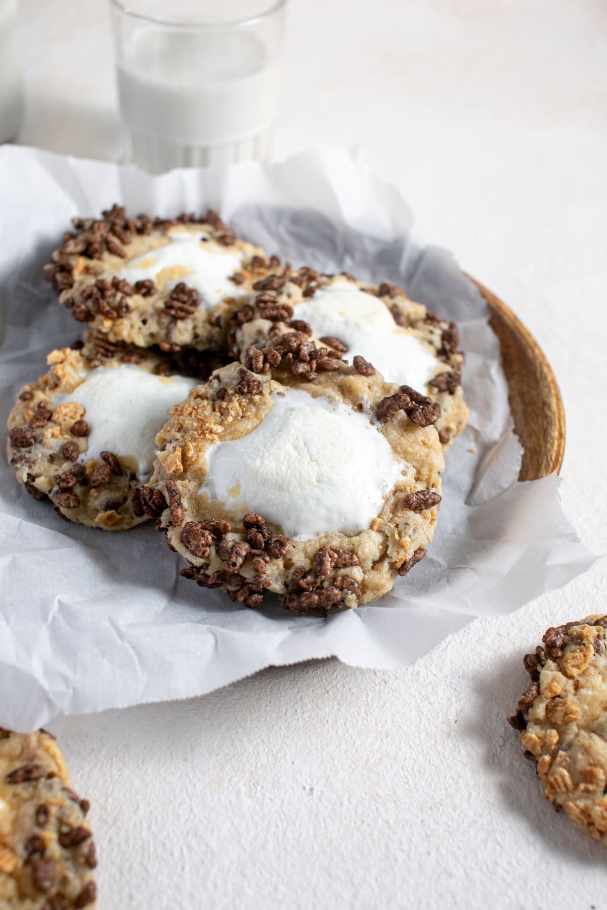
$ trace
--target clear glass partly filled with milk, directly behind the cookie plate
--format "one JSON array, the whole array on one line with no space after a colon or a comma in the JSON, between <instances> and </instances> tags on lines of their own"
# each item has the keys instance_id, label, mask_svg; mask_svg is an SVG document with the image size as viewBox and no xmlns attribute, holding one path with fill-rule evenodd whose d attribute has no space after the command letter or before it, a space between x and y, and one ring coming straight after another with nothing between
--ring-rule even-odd
<instances>
[{"instance_id":1,"label":"clear glass partly filled with milk, directly behind the cookie plate","mask_svg":"<svg viewBox=\"0 0 607 910\"><path fill-rule=\"evenodd\" d=\"M111 0L126 159L160 174L268 158L286 5Z\"/></svg>"}]
</instances>

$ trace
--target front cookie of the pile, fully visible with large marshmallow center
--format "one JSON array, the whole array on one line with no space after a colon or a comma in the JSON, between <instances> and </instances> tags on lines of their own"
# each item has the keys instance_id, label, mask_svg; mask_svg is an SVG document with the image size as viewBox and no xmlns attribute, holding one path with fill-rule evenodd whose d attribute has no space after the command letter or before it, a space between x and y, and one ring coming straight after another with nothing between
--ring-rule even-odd
<instances>
[{"instance_id":1,"label":"front cookie of the pile, fully visible with large marshmallow center","mask_svg":"<svg viewBox=\"0 0 607 910\"><path fill-rule=\"evenodd\" d=\"M239 363L214 372L157 436L157 523L187 579L256 607L329 612L389 591L426 554L444 460L430 399L335 358L318 379Z\"/></svg>"}]
</instances>

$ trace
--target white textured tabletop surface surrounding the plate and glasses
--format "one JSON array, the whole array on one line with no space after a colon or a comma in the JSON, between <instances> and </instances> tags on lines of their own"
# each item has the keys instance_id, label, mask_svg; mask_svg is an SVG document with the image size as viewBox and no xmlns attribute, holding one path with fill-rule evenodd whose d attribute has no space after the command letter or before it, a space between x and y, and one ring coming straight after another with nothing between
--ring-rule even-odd
<instances>
[{"instance_id":1,"label":"white textured tabletop surface surrounding the plate and glasses","mask_svg":"<svg viewBox=\"0 0 607 910\"><path fill-rule=\"evenodd\" d=\"M105 0L22 0L19 141L118 155ZM607 551L605 0L290 0L276 155L363 147L425 237L505 299L567 415L566 511ZM108 200L111 201L111 200ZM61 718L103 910L607 907L607 853L541 799L505 716L604 563L402 672L270 669Z\"/></svg>"}]
</instances>

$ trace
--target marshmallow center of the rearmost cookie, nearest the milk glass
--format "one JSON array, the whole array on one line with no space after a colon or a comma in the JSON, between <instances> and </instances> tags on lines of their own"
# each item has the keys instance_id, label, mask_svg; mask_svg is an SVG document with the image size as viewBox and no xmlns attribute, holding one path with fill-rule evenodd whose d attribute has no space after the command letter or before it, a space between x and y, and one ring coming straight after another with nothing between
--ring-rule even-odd
<instances>
[{"instance_id":1,"label":"marshmallow center of the rearmost cookie, nearest the milk glass","mask_svg":"<svg viewBox=\"0 0 607 910\"><path fill-rule=\"evenodd\" d=\"M170 291L180 281L200 294L202 305L211 309L227 297L242 297L229 276L242 268L242 256L212 240L201 240L201 232L175 229L170 242L130 259L120 271L120 278L131 284L150 279L161 290Z\"/></svg>"}]
</instances>

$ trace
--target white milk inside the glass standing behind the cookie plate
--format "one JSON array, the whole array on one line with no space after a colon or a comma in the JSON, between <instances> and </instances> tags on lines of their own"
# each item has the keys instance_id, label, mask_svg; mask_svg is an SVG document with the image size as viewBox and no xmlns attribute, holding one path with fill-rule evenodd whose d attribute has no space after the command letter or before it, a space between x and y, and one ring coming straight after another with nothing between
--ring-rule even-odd
<instances>
[{"instance_id":1,"label":"white milk inside the glass standing behind the cookie plate","mask_svg":"<svg viewBox=\"0 0 607 910\"><path fill-rule=\"evenodd\" d=\"M137 30L118 60L120 107L137 164L161 173L267 157L278 66L255 35Z\"/></svg>"}]
</instances>

